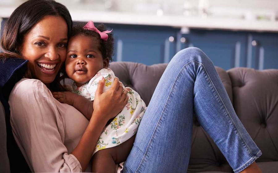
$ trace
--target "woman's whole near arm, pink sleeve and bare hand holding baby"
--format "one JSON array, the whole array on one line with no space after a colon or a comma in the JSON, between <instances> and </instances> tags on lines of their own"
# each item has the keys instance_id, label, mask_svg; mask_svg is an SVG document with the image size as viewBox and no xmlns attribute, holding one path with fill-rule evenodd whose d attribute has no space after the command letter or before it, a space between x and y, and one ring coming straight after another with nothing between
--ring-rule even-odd
<instances>
[{"instance_id":1,"label":"woman's whole near arm, pink sleeve and bare hand holding baby","mask_svg":"<svg viewBox=\"0 0 278 173\"><path fill-rule=\"evenodd\" d=\"M9 104L14 136L31 170L85 171L106 121L127 103L118 80L115 81L115 86L105 93L102 93L101 88L104 82L100 82L93 116L71 154L64 145L64 125L56 103L50 99L52 94L41 81L26 81L28 82L21 82L22 85L10 96Z\"/></svg>"}]
</instances>

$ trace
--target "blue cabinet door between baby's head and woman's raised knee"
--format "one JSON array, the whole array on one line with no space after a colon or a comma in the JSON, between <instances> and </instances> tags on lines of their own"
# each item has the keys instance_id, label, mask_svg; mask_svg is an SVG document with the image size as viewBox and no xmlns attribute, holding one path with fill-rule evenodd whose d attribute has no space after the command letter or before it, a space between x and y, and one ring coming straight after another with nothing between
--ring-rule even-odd
<instances>
[{"instance_id":1,"label":"blue cabinet door between baby's head and woman's raised knee","mask_svg":"<svg viewBox=\"0 0 278 173\"><path fill-rule=\"evenodd\" d=\"M114 61L146 65L168 63L175 55L177 29L157 26L109 25L115 38Z\"/></svg>"}]
</instances>

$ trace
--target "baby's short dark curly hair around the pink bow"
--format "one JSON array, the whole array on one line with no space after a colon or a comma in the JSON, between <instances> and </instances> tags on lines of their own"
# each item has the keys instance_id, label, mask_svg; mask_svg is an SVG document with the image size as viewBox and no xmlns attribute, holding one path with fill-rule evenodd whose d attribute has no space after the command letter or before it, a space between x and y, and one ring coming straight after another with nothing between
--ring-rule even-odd
<instances>
[{"instance_id":1,"label":"baby's short dark curly hair around the pink bow","mask_svg":"<svg viewBox=\"0 0 278 173\"><path fill-rule=\"evenodd\" d=\"M102 54L102 58L108 58L109 62L112 62L113 61L112 56L114 55L113 34L108 33L108 39L107 39L107 41L105 41L100 38L100 35L97 32L95 32L93 30L83 29L83 27L85 25L86 25L86 23L84 23L84 22L80 22L80 23L77 23L76 25L74 25L71 30L71 37L73 37L75 35L83 34L85 36L97 38L99 41L99 50ZM96 26L96 28L101 32L107 30L106 26L104 24L99 24L98 26Z\"/></svg>"}]
</instances>

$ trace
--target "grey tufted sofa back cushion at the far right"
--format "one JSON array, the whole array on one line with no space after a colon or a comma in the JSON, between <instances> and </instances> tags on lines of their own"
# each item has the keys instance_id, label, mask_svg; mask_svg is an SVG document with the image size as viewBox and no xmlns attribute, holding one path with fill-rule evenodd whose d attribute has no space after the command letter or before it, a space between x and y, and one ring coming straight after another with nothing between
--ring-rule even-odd
<instances>
[{"instance_id":1,"label":"grey tufted sofa back cushion at the far right","mask_svg":"<svg viewBox=\"0 0 278 173\"><path fill-rule=\"evenodd\" d=\"M257 162L278 161L278 70L234 68L234 109L262 151Z\"/></svg>"}]
</instances>

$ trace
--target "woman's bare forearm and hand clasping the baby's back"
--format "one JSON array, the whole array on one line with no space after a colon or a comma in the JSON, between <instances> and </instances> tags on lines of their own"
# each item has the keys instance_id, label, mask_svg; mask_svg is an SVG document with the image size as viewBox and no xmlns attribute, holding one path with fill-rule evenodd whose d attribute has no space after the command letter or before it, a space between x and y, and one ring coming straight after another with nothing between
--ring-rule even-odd
<instances>
[{"instance_id":1,"label":"woman's bare forearm and hand clasping the baby's back","mask_svg":"<svg viewBox=\"0 0 278 173\"><path fill-rule=\"evenodd\" d=\"M79 160L82 166L82 171L85 171L92 157L103 127L109 119L115 117L117 113L124 108L128 101L128 96L123 93L123 87L120 85L118 78L115 78L112 88L103 93L104 84L104 79L99 81L95 93L92 118L80 142L72 152L72 154ZM116 103L115 101L119 101L119 103Z\"/></svg>"}]
</instances>

